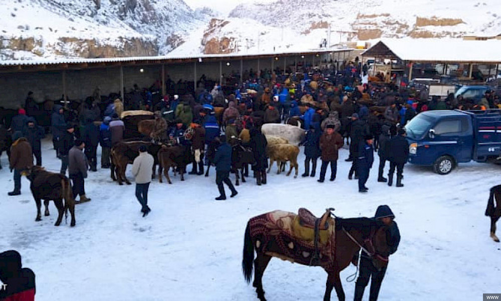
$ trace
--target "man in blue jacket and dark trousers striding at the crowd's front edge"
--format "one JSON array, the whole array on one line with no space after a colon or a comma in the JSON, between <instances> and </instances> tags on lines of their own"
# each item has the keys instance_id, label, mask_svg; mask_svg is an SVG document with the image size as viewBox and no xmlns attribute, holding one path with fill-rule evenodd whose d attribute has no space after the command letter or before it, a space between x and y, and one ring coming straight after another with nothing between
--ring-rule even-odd
<instances>
[{"instance_id":1,"label":"man in blue jacket and dark trousers striding at the crowd's front edge","mask_svg":"<svg viewBox=\"0 0 501 301\"><path fill-rule=\"evenodd\" d=\"M222 143L217 147L212 163L216 166L216 184L220 194L216 198L216 201L223 201L226 200L226 193L224 192L222 183L228 185L231 190L231 198L236 196L238 192L229 180L229 172L231 171L231 146L226 143L226 137L224 135L219 138Z\"/></svg>"}]
</instances>

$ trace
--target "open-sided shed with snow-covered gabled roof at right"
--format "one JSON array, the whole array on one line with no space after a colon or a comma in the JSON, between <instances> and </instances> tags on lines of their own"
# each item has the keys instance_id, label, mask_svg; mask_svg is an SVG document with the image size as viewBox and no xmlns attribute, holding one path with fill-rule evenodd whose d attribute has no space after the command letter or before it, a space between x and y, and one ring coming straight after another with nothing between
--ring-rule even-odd
<instances>
[{"instance_id":1,"label":"open-sided shed with snow-covered gabled roof at right","mask_svg":"<svg viewBox=\"0 0 501 301\"><path fill-rule=\"evenodd\" d=\"M377 42L362 57L403 64L409 82L413 77L483 81L499 74L499 49L498 39L389 39Z\"/></svg>"}]
</instances>

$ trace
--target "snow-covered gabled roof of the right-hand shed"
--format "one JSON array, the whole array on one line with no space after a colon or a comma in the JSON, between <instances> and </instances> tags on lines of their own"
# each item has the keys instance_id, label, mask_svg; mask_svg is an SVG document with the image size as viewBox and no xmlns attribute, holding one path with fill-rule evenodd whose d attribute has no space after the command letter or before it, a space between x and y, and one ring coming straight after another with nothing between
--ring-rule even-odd
<instances>
[{"instance_id":1,"label":"snow-covered gabled roof of the right-hand shed","mask_svg":"<svg viewBox=\"0 0 501 301\"><path fill-rule=\"evenodd\" d=\"M501 40L381 40L363 56L396 57L411 62L501 63Z\"/></svg>"}]
</instances>

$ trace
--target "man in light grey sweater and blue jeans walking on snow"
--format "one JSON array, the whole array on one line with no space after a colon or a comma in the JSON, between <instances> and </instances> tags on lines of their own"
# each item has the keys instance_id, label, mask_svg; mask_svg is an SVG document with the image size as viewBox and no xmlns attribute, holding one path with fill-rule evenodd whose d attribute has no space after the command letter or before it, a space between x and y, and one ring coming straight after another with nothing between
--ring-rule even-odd
<instances>
[{"instance_id":1,"label":"man in light grey sweater and blue jeans walking on snow","mask_svg":"<svg viewBox=\"0 0 501 301\"><path fill-rule=\"evenodd\" d=\"M148 207L148 188L151 182L153 163L153 156L148 154L146 145L139 146L139 156L134 159L131 172L136 178L136 198L141 204L143 217L151 211Z\"/></svg>"}]
</instances>

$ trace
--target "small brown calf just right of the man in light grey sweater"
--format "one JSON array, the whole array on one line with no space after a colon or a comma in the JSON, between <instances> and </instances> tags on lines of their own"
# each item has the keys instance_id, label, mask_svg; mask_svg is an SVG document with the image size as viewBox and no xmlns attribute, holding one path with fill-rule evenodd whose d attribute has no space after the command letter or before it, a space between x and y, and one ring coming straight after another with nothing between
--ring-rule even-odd
<instances>
[{"instance_id":1,"label":"small brown calf just right of the man in light grey sweater","mask_svg":"<svg viewBox=\"0 0 501 301\"><path fill-rule=\"evenodd\" d=\"M186 166L191 163L191 150L189 145L162 145L158 150L158 181L162 183L162 171L167 178L167 182L172 184L169 177L169 169L172 167L174 176L176 175L176 168L179 168L181 174L181 181L184 181L184 174L186 173Z\"/></svg>"}]
</instances>

